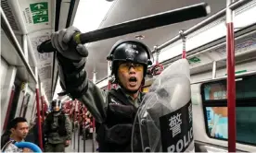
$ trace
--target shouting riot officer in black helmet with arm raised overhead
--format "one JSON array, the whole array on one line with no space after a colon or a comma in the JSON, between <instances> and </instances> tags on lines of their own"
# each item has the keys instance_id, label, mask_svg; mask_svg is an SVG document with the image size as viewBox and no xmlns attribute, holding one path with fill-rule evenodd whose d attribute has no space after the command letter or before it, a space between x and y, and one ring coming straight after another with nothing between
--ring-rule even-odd
<instances>
[{"instance_id":1,"label":"shouting riot officer in black helmet with arm raised overhead","mask_svg":"<svg viewBox=\"0 0 256 153\"><path fill-rule=\"evenodd\" d=\"M141 41L118 41L108 60L120 88L104 92L87 78L87 49L83 44L68 45L75 32L80 31L70 27L52 34L52 45L58 50L60 85L71 98L81 100L96 118L99 151L129 152L135 113L144 96L140 88L147 65L152 65L151 52ZM138 140L134 147L134 151L142 151Z\"/></svg>"}]
</instances>

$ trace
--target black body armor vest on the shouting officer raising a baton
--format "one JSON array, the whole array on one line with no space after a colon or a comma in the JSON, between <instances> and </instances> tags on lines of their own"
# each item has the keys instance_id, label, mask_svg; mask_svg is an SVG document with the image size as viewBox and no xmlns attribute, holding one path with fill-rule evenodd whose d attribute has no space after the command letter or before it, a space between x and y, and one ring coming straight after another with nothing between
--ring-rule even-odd
<instances>
[{"instance_id":1,"label":"black body armor vest on the shouting officer raising a baton","mask_svg":"<svg viewBox=\"0 0 256 153\"><path fill-rule=\"evenodd\" d=\"M99 124L97 128L96 140L99 151L130 152L137 108L127 99L121 88L111 89L107 100L107 119L104 123ZM137 130L137 128L135 129ZM135 133L135 135L139 135L139 131ZM140 141L134 141L134 143L134 146L137 147L134 151L141 151Z\"/></svg>"}]
</instances>

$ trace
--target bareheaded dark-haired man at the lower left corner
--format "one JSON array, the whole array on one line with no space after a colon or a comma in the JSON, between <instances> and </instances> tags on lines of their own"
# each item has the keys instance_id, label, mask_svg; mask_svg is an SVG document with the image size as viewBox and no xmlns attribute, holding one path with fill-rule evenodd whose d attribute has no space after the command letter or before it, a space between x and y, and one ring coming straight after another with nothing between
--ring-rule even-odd
<instances>
[{"instance_id":1,"label":"bareheaded dark-haired man at the lower left corner","mask_svg":"<svg viewBox=\"0 0 256 153\"><path fill-rule=\"evenodd\" d=\"M2 152L30 152L28 148L19 148L14 144L22 142L29 133L29 124L23 117L13 119L6 131L6 135L1 136L1 151Z\"/></svg>"}]
</instances>

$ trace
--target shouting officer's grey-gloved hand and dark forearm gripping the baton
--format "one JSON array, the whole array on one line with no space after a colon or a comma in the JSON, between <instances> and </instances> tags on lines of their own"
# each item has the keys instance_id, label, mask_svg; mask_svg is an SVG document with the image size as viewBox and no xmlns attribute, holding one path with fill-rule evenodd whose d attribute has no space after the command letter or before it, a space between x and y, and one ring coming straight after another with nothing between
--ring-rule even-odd
<instances>
[{"instance_id":1,"label":"shouting officer's grey-gloved hand and dark forearm gripping the baton","mask_svg":"<svg viewBox=\"0 0 256 153\"><path fill-rule=\"evenodd\" d=\"M60 86L65 94L73 99L80 98L87 90L86 72L84 69L88 51L83 44L74 45L70 41L73 35L80 32L75 27L61 29L52 34L52 45L58 50L58 74Z\"/></svg>"}]
</instances>

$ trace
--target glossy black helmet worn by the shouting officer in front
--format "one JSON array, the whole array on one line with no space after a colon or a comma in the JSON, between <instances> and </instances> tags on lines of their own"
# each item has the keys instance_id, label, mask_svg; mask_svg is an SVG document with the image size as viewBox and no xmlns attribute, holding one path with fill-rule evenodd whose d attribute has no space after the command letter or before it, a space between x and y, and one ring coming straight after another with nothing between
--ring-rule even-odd
<instances>
[{"instance_id":1,"label":"glossy black helmet worn by the shouting officer in front","mask_svg":"<svg viewBox=\"0 0 256 153\"><path fill-rule=\"evenodd\" d=\"M153 56L146 44L141 41L117 41L107 57L111 61L111 75L116 75L118 62L134 62L144 65L144 76L147 74L147 65L152 65Z\"/></svg>"}]
</instances>

